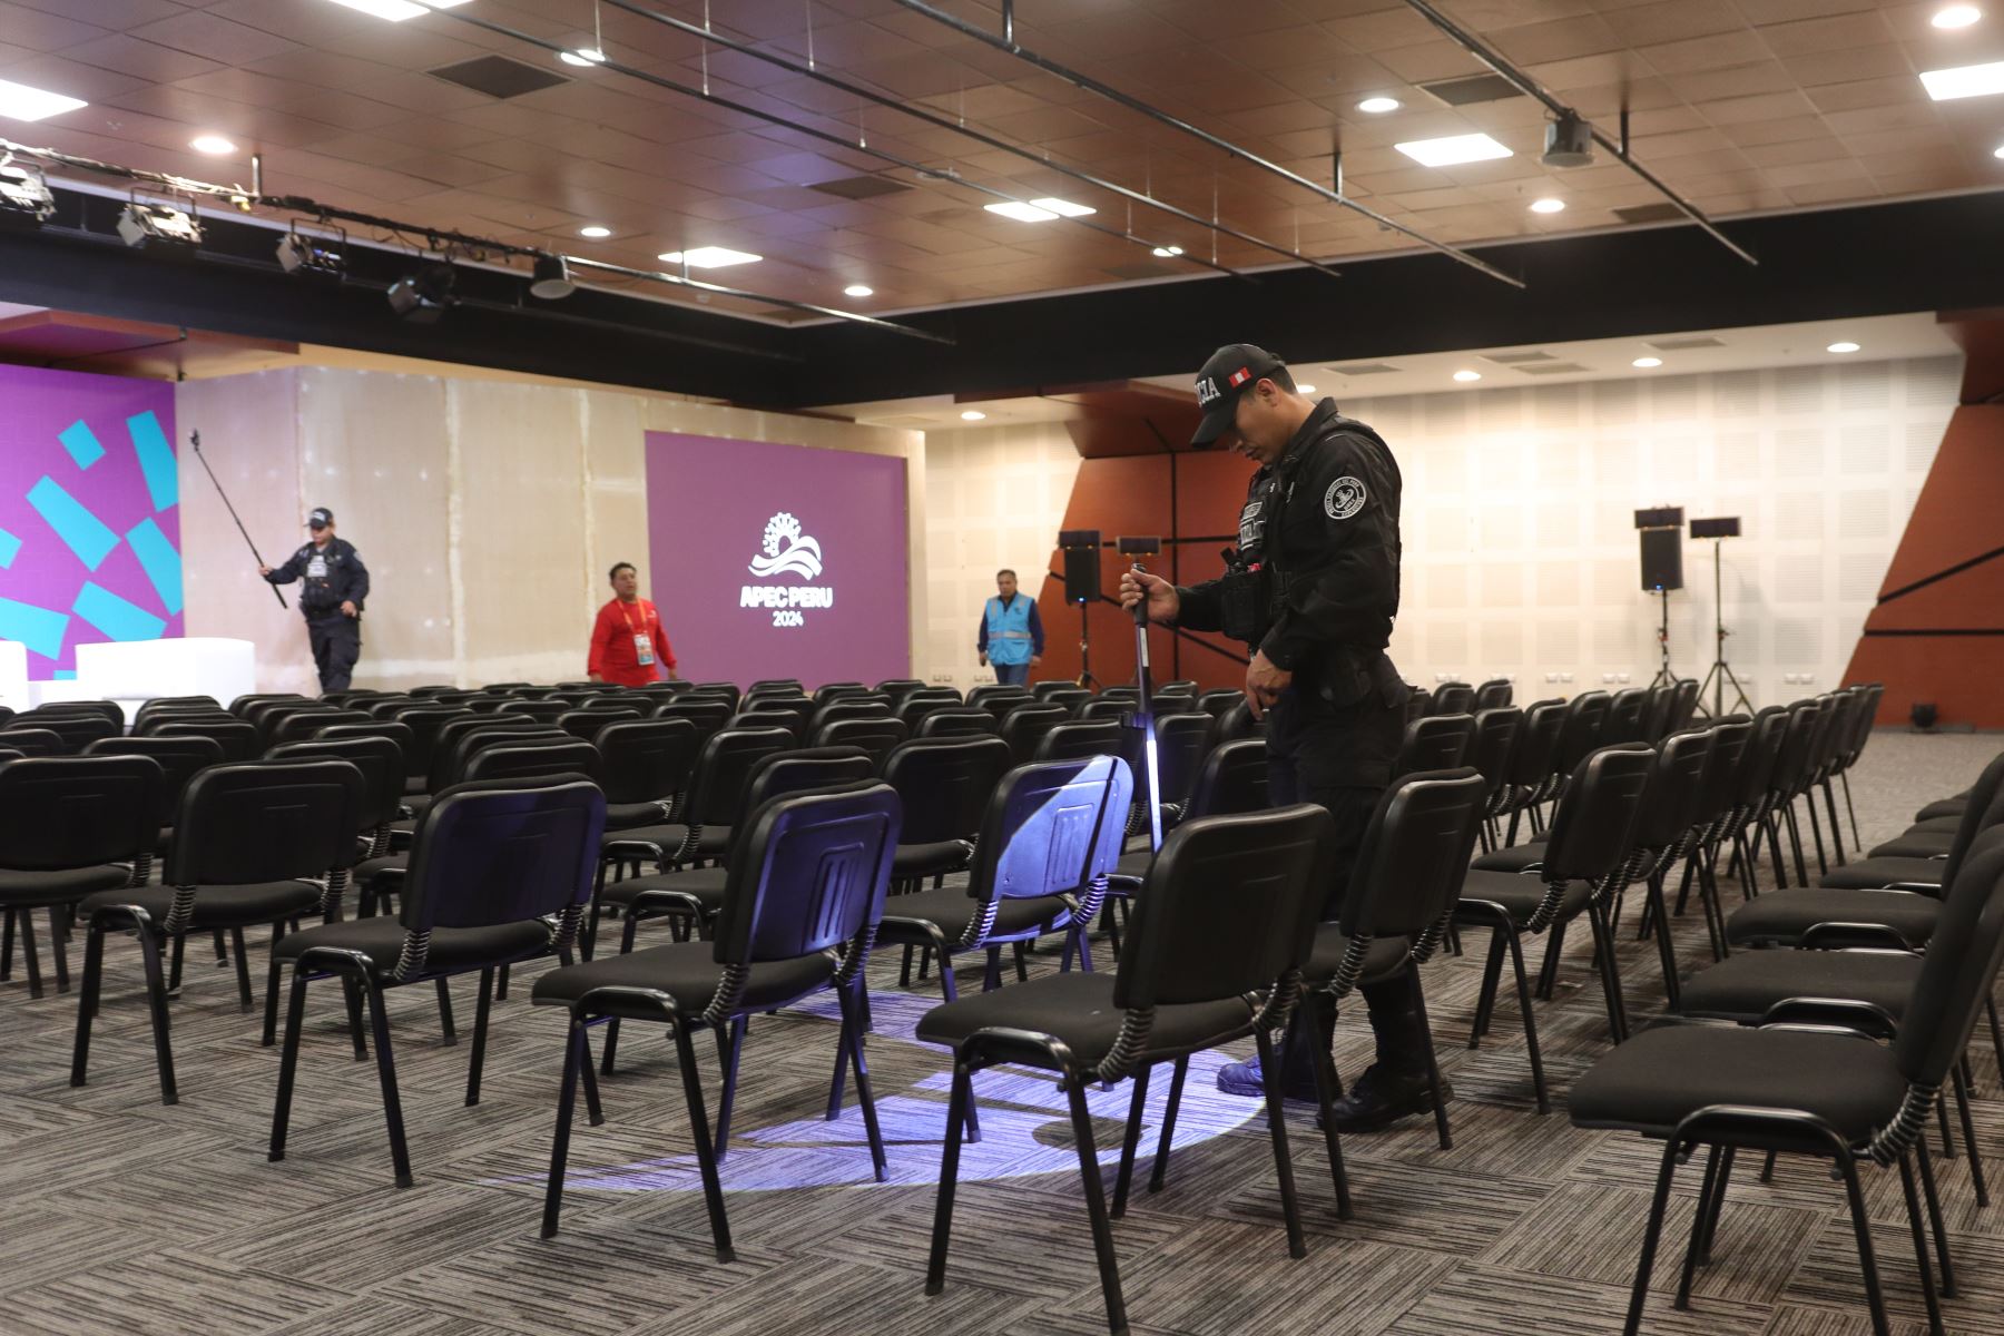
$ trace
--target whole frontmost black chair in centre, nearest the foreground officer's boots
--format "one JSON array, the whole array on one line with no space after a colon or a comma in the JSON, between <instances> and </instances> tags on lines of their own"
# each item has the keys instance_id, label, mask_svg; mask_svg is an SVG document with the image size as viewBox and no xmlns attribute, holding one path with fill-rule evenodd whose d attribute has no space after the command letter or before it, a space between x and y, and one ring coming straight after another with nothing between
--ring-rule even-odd
<instances>
[{"instance_id":1,"label":"whole frontmost black chair in centre, nearest the foreground officer's boots","mask_svg":"<svg viewBox=\"0 0 2004 1336\"><path fill-rule=\"evenodd\" d=\"M1022 771L1016 771L1018 775ZM1275 1036L1301 997L1315 941L1315 915L1329 881L1331 817L1295 805L1242 817L1186 821L1164 841L1134 907L1128 947L1112 975L1058 973L934 1008L918 1038L954 1052L946 1152L934 1206L926 1292L946 1286L946 1250L960 1180L960 1142L974 1136L974 1074L1032 1066L1056 1074L1072 1116L1072 1146L1092 1226L1106 1324L1126 1332L1120 1264L1100 1184L1086 1090L1134 1078L1128 1136L1114 1184L1114 1210L1134 1176L1140 1110L1158 1064L1184 1072L1190 1054L1252 1036L1267 1074L1267 1130L1281 1180L1289 1256L1307 1256L1295 1172L1281 1114ZM1180 1080L1176 1082L1180 1086ZM1339 1200L1347 1196L1331 1090L1317 1068L1317 1094ZM1174 1098L1174 1096L1172 1096ZM1164 1118L1158 1186L1172 1128Z\"/></svg>"}]
</instances>

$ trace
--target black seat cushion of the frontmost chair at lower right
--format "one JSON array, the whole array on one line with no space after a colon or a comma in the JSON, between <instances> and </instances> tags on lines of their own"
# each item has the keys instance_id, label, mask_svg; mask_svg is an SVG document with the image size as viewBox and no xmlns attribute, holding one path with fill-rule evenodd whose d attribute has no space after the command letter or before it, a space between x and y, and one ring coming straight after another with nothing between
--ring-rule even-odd
<instances>
[{"instance_id":1,"label":"black seat cushion of the frontmost chair at lower right","mask_svg":"<svg viewBox=\"0 0 2004 1336\"><path fill-rule=\"evenodd\" d=\"M1816 1114L1854 1146L1892 1122L1906 1078L1892 1050L1842 1034L1663 1026L1573 1082L1573 1126L1669 1136L1711 1104Z\"/></svg>"}]
</instances>

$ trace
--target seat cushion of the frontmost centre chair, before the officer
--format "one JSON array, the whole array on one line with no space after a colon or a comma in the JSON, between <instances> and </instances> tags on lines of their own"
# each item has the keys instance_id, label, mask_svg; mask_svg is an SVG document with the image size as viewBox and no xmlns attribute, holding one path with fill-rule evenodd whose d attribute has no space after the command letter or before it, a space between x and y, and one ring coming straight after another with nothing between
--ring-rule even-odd
<instances>
[{"instance_id":1,"label":"seat cushion of the frontmost centre chair, before the officer","mask_svg":"<svg viewBox=\"0 0 2004 1336\"><path fill-rule=\"evenodd\" d=\"M1122 1016L1114 1006L1112 973L1050 973L932 1008L918 1020L918 1038L960 1048L982 1030L1028 1030L1062 1040L1072 1060L1090 1068L1112 1050ZM1252 1016L1244 997L1158 1006L1142 1062L1234 1040L1248 1032ZM1012 1054L1012 1062L1028 1060L1026 1054Z\"/></svg>"}]
</instances>

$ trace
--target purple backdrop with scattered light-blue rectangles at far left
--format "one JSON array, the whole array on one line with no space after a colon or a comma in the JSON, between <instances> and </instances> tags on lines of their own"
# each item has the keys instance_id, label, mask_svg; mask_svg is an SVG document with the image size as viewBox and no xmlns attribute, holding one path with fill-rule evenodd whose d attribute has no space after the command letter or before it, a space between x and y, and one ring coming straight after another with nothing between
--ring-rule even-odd
<instances>
[{"instance_id":1,"label":"purple backdrop with scattered light-blue rectangles at far left","mask_svg":"<svg viewBox=\"0 0 2004 1336\"><path fill-rule=\"evenodd\" d=\"M0 639L28 675L182 633L174 387L0 367Z\"/></svg>"}]
</instances>

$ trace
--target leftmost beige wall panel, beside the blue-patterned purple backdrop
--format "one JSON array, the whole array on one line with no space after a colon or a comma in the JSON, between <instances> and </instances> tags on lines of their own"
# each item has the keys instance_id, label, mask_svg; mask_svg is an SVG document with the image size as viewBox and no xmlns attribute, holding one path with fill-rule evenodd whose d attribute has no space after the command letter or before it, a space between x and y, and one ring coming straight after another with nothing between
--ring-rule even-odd
<instances>
[{"instance_id":1,"label":"leftmost beige wall panel, beside the blue-patterned purple backdrop","mask_svg":"<svg viewBox=\"0 0 2004 1336\"><path fill-rule=\"evenodd\" d=\"M271 597L222 499L186 449L186 433L202 433L202 459L228 491L265 561L285 561L301 543L307 513L299 497L297 377L295 371L261 371L174 387L174 421L182 433L180 563L188 635L250 641L259 691L319 695L299 609L283 609Z\"/></svg>"}]
</instances>

